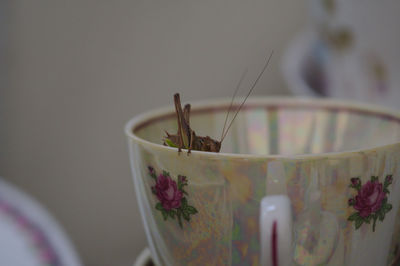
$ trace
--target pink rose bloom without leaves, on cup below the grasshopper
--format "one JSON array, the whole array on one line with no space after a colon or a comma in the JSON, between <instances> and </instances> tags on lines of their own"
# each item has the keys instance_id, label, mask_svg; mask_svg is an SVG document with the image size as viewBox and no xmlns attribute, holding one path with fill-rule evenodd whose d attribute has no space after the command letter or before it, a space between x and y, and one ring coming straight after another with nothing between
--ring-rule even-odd
<instances>
[{"instance_id":1,"label":"pink rose bloom without leaves, on cup below the grasshopper","mask_svg":"<svg viewBox=\"0 0 400 266\"><path fill-rule=\"evenodd\" d=\"M163 208L167 211L181 206L182 191L178 189L176 182L169 176L159 175L156 185L152 187Z\"/></svg>"}]
</instances>

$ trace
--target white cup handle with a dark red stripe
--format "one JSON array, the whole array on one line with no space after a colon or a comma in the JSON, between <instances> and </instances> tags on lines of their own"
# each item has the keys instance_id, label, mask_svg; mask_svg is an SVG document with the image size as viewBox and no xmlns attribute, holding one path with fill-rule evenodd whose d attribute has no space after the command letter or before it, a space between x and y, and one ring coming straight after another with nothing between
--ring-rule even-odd
<instances>
[{"instance_id":1,"label":"white cup handle with a dark red stripe","mask_svg":"<svg viewBox=\"0 0 400 266\"><path fill-rule=\"evenodd\" d=\"M292 213L286 195L266 196L260 206L261 265L287 266L292 261Z\"/></svg>"}]
</instances>

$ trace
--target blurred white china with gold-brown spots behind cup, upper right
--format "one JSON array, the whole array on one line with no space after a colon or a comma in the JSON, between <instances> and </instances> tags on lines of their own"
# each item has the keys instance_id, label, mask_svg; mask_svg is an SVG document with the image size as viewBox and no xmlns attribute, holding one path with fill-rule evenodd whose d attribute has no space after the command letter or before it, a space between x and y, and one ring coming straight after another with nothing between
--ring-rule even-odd
<instances>
[{"instance_id":1,"label":"blurred white china with gold-brown spots behind cup, upper right","mask_svg":"<svg viewBox=\"0 0 400 266\"><path fill-rule=\"evenodd\" d=\"M311 76L324 96L399 108L400 2L312 0L310 10L311 25L284 59L290 89L315 95Z\"/></svg>"}]
</instances>

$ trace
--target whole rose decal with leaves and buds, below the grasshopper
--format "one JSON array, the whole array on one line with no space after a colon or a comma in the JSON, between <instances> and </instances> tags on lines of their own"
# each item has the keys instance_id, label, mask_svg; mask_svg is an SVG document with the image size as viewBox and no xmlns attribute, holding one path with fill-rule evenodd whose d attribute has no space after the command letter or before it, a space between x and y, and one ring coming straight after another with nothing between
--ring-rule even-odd
<instances>
[{"instance_id":1,"label":"whole rose decal with leaves and buds, below the grasshopper","mask_svg":"<svg viewBox=\"0 0 400 266\"><path fill-rule=\"evenodd\" d=\"M197 209L188 204L185 196L188 193L184 187L188 185L186 176L178 175L178 182L173 180L170 174L163 171L157 176L152 166L148 167L149 175L155 180L156 184L151 187L151 191L156 195L159 202L155 205L156 210L160 211L164 221L168 218L178 220L180 228L183 228L182 219L190 222L191 215L197 213Z\"/></svg>"}]
</instances>

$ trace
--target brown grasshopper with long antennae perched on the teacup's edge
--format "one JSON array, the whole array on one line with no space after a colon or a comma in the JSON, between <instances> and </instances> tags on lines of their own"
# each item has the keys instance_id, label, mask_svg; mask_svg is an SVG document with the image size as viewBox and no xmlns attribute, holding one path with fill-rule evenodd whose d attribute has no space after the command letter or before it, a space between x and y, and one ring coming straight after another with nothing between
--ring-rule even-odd
<instances>
[{"instance_id":1,"label":"brown grasshopper with long antennae perched on the teacup's edge","mask_svg":"<svg viewBox=\"0 0 400 266\"><path fill-rule=\"evenodd\" d=\"M254 81L253 85L251 86L249 92L247 93L245 99L243 100L243 102L240 104L239 108L237 109L234 117L232 118L229 126L227 127L226 131L225 131L225 126L226 126L226 122L228 120L228 116L230 113L230 110L233 106L233 100L236 96L237 91L240 88L240 85L243 81L243 78L246 75L245 71L236 87L235 93L232 97L231 100L231 104L229 106L228 109L228 113L226 115L225 118L225 123L224 123L224 127L222 129L222 135L221 135L221 140L215 140L212 139L209 136L206 137L201 137L201 136L197 136L196 133L194 132L193 129L191 129L190 127L190 104L186 104L185 107L182 110L182 106L181 106L181 100L180 100L180 96L179 93L176 93L174 95L174 103L175 103L175 111L176 111L176 116L177 116L177 120L178 120L178 132L176 135L173 134L169 134L168 132L166 133L166 136L164 137L164 145L166 146L170 146L170 147L175 147L178 148L178 152L182 151L183 149L187 149L188 150L188 154L190 153L191 150L196 150L196 151L208 151L208 152L219 152L221 149L221 144L222 141L224 140L226 134L228 133L230 127L232 126L233 121L235 120L237 114L239 113L240 109L242 108L242 106L244 105L244 103L246 102L247 98L249 97L249 95L251 94L251 92L253 91L254 87L257 85L259 79L261 78L262 74L264 73L265 69L267 68L269 61L271 60L273 52L270 54L266 64L264 65L264 68L262 69L262 71L260 72L260 74L258 75L257 79Z\"/></svg>"}]
</instances>

